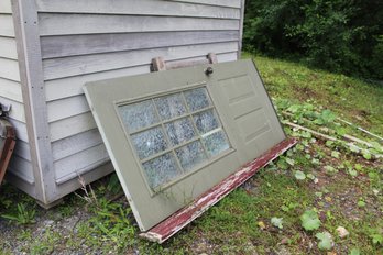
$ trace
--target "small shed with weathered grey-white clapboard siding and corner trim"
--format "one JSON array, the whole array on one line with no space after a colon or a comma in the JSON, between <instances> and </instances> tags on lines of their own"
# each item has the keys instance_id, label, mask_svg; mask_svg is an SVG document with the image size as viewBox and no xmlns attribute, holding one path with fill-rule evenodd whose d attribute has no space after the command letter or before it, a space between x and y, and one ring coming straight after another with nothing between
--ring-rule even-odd
<instances>
[{"instance_id":1,"label":"small shed with weathered grey-white clapboard siding and corner trim","mask_svg":"<svg viewBox=\"0 0 383 255\"><path fill-rule=\"evenodd\" d=\"M113 171L85 82L167 63L237 60L244 0L0 0L0 103L17 147L7 179L51 207Z\"/></svg>"}]
</instances>

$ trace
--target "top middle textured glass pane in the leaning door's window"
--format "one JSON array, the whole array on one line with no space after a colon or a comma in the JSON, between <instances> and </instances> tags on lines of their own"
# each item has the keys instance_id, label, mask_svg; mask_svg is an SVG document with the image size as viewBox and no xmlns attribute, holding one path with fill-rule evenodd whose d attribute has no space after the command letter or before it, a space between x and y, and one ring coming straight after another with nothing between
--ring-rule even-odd
<instances>
[{"instance_id":1,"label":"top middle textured glass pane in the leaning door's window","mask_svg":"<svg viewBox=\"0 0 383 255\"><path fill-rule=\"evenodd\" d=\"M169 120L186 113L180 93L154 99L162 120Z\"/></svg>"}]
</instances>

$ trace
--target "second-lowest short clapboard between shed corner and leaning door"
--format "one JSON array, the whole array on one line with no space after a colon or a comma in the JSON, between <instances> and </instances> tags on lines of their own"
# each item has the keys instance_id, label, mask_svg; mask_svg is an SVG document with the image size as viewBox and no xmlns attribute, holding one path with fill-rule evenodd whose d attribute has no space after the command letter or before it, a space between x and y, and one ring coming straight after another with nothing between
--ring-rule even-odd
<instances>
[{"instance_id":1,"label":"second-lowest short clapboard between shed corner and leaning door","mask_svg":"<svg viewBox=\"0 0 383 255\"><path fill-rule=\"evenodd\" d=\"M52 143L53 160L59 160L89 147L102 144L97 129L73 135Z\"/></svg>"}]
</instances>

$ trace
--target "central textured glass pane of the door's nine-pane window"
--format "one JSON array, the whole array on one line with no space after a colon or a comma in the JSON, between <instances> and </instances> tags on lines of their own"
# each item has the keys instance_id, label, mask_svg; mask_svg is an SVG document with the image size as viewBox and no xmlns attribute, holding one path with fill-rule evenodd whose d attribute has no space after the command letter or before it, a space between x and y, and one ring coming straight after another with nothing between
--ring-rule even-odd
<instances>
[{"instance_id":1,"label":"central textured glass pane of the door's nine-pane window","mask_svg":"<svg viewBox=\"0 0 383 255\"><path fill-rule=\"evenodd\" d=\"M187 142L196 135L189 118L167 123L165 129L173 145Z\"/></svg>"}]
</instances>

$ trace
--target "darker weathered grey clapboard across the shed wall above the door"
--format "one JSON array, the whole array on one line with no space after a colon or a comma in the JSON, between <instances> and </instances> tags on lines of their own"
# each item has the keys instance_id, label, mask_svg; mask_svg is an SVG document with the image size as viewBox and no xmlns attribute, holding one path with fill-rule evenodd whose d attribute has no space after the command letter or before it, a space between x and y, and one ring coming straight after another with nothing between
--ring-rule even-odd
<instances>
[{"instance_id":1,"label":"darker weathered grey clapboard across the shed wall above the door","mask_svg":"<svg viewBox=\"0 0 383 255\"><path fill-rule=\"evenodd\" d=\"M239 31L186 31L47 36L43 58L238 41ZM1 43L1 42L0 42ZM1 51L1 49L0 49Z\"/></svg>"}]
</instances>

